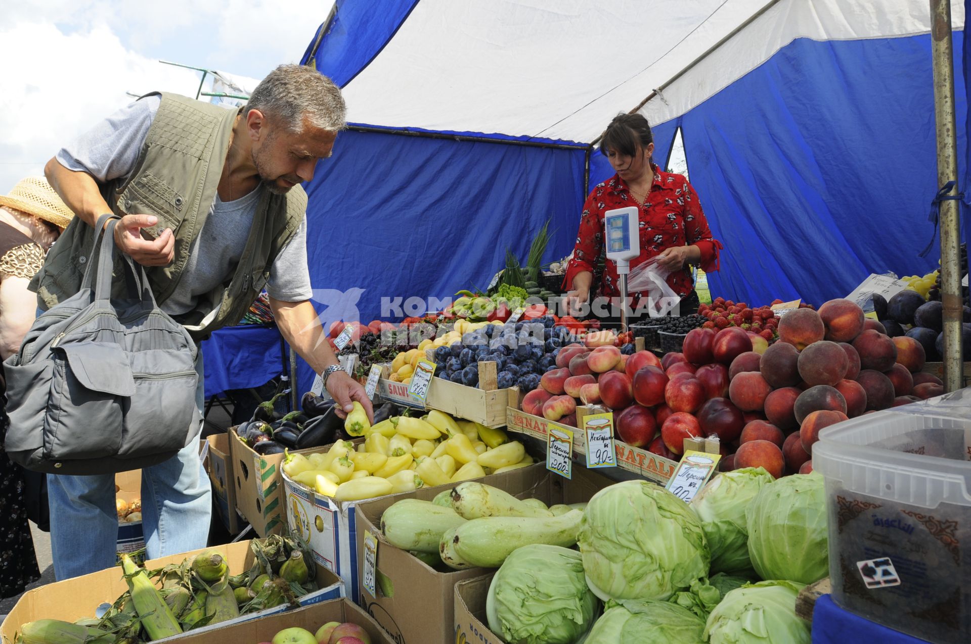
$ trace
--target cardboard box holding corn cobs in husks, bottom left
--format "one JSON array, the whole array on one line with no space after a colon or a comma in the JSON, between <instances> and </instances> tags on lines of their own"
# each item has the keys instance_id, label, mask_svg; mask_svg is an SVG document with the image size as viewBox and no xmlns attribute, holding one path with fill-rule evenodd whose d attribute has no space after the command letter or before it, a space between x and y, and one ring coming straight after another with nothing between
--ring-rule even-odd
<instances>
[{"instance_id":1,"label":"cardboard box holding corn cobs in husks, bottom left","mask_svg":"<svg viewBox=\"0 0 971 644\"><path fill-rule=\"evenodd\" d=\"M239 574L249 570L255 561L255 557L250 549L250 541L239 541L237 543L216 546L216 549L226 556L226 563L229 565L230 574ZM186 557L203 552L203 550L205 549L151 560L145 564L145 567L152 570L168 565L169 563L182 563ZM327 599L336 599L344 596L344 585L330 570L317 566L316 581L320 590L301 597L300 603L302 605L316 604ZM2 641L2 644L13 644L15 634L27 622L43 619L74 622L82 618L94 617L98 605L104 602L115 602L127 590L128 584L121 576L121 569L114 567L27 591L17 600L17 604L7 615L7 619L0 625L0 641ZM196 633L208 632L209 630L222 628L228 624L246 622L285 610L285 605L268 608L265 611L252 613L251 615L243 615L231 623L227 622L211 627L199 628L193 630L192 633L194 635ZM179 635L178 637L182 638L184 636Z\"/></svg>"}]
</instances>

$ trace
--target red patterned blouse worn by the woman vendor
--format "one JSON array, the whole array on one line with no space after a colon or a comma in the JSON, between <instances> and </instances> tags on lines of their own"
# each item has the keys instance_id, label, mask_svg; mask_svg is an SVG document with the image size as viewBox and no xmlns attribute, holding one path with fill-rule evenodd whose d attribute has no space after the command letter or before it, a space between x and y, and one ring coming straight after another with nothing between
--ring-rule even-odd
<instances>
[{"instance_id":1,"label":"red patterned blouse worn by the woman vendor","mask_svg":"<svg viewBox=\"0 0 971 644\"><path fill-rule=\"evenodd\" d=\"M721 243L712 237L708 219L701 210L698 195L683 175L665 173L652 164L654 182L650 194L640 209L641 256L632 260L631 268L659 255L673 246L697 245L701 250L701 269L705 273L719 270ZM573 288L578 273L594 272L603 252L604 212L637 206L626 182L617 175L597 184L590 191L580 217L580 231L573 258L566 267L563 288ZM676 271L667 278L668 285L685 297L694 288L691 273ZM592 296L618 297L620 294L617 265L607 262L599 290L591 287ZM637 295L629 294L631 297Z\"/></svg>"}]
</instances>

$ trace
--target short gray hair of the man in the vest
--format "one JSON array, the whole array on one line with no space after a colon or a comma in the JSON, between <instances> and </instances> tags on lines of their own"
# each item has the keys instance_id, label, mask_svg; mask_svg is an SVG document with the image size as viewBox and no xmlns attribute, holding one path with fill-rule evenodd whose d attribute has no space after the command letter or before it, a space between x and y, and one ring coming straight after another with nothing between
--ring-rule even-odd
<instances>
[{"instance_id":1,"label":"short gray hair of the man in the vest","mask_svg":"<svg viewBox=\"0 0 971 644\"><path fill-rule=\"evenodd\" d=\"M294 134L303 131L304 118L313 127L329 132L347 127L341 88L305 65L281 65L259 81L247 103L246 112L251 110L279 118Z\"/></svg>"}]
</instances>

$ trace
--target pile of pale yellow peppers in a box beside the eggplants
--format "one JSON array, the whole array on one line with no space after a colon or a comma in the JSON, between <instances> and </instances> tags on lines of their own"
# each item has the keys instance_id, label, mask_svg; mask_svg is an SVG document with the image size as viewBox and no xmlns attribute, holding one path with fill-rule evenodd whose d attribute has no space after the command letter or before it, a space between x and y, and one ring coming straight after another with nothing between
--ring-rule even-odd
<instances>
[{"instance_id":1,"label":"pile of pale yellow peppers in a box beside the eggplants","mask_svg":"<svg viewBox=\"0 0 971 644\"><path fill-rule=\"evenodd\" d=\"M363 428L364 440L324 452L286 454L284 472L319 495L361 500L449 485L526 467L533 459L500 429L432 410Z\"/></svg>"}]
</instances>

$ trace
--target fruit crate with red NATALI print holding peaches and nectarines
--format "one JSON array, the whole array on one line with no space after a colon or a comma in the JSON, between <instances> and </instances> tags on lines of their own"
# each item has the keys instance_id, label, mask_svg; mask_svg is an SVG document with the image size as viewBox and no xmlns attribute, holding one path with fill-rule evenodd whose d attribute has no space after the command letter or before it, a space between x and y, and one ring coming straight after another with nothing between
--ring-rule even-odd
<instances>
[{"instance_id":1,"label":"fruit crate with red NATALI print holding peaches and nectarines","mask_svg":"<svg viewBox=\"0 0 971 644\"><path fill-rule=\"evenodd\" d=\"M601 413L602 411L602 408L597 407L577 407L577 424L579 425L583 422L581 419L585 413ZM515 407L509 407L507 415L507 431L529 435L534 438L539 438L544 442L547 440L548 428L550 427L565 427L570 430L573 432L574 457L581 464L586 464L586 435L577 428L560 425L541 416L527 414L525 411L521 411ZM678 468L676 461L670 461L662 456L653 454L640 447L628 445L619 440L614 441L614 449L617 452L618 467L643 476L660 485L665 485L668 479L674 475L675 469ZM575 467L573 471L576 472L578 469L581 469L581 467Z\"/></svg>"}]
</instances>

